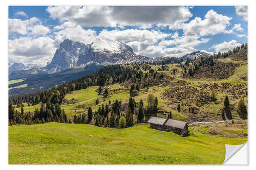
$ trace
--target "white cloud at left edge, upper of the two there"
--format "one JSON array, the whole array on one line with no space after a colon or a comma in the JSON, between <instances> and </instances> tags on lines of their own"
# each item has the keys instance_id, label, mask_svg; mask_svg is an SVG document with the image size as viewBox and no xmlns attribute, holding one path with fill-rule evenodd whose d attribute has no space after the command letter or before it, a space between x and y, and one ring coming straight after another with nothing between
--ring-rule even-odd
<instances>
[{"instance_id":1,"label":"white cloud at left edge, upper of the two there","mask_svg":"<svg viewBox=\"0 0 256 170\"><path fill-rule=\"evenodd\" d=\"M20 19L8 19L8 28L10 33L19 33L22 35L34 34L34 35L45 35L51 30L48 27L42 26L41 21L32 17L26 20Z\"/></svg>"}]
</instances>

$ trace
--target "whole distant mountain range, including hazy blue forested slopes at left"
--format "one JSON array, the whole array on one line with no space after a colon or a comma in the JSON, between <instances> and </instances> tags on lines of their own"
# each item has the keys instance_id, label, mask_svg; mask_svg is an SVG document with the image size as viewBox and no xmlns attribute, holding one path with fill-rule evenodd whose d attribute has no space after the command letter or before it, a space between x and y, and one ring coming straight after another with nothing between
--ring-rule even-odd
<instances>
[{"instance_id":1,"label":"whole distant mountain range, including hazy blue forested slopes at left","mask_svg":"<svg viewBox=\"0 0 256 170\"><path fill-rule=\"evenodd\" d=\"M204 52L194 52L183 56L196 59L210 56ZM168 57L145 57L136 55L133 49L120 41L98 38L93 43L65 39L60 43L53 59L45 67L32 64L9 63L9 80L23 79L9 85L9 94L36 92L55 85L67 83L91 74L105 65L130 64L135 62L159 62ZM23 88L17 86L26 85Z\"/></svg>"}]
</instances>

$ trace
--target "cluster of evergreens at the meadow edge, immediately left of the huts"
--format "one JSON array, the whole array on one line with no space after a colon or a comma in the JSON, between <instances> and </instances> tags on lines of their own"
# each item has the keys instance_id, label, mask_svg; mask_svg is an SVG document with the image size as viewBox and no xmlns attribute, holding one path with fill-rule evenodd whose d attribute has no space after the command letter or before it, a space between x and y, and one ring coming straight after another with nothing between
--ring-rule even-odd
<instances>
[{"instance_id":1,"label":"cluster of evergreens at the meadow edge, immediately left of the huts","mask_svg":"<svg viewBox=\"0 0 256 170\"><path fill-rule=\"evenodd\" d=\"M114 103L102 104L98 110L93 112L92 108L88 108L88 112L74 115L74 124L91 124L99 127L110 128L126 128L137 123L145 121L145 114L157 113L157 98L153 94L148 95L147 107L144 107L143 101L136 103L131 97L127 108L121 112L122 103L116 100ZM138 109L138 111L136 111ZM126 111L125 111L126 110Z\"/></svg>"}]
</instances>

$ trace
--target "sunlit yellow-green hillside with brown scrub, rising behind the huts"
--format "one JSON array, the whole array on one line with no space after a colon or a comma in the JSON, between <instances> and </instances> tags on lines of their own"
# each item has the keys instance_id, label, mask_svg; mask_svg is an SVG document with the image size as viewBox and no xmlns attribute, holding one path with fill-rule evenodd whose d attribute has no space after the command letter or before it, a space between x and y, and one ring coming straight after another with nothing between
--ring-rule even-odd
<instances>
[{"instance_id":1,"label":"sunlit yellow-green hillside with brown scrub, rising behind the huts","mask_svg":"<svg viewBox=\"0 0 256 170\"><path fill-rule=\"evenodd\" d=\"M144 106L147 105L146 99L148 93L153 93L158 98L159 117L167 117L167 112L172 111L173 118L184 120L189 123L200 121L217 121L222 120L221 109L223 107L224 98L228 95L230 109L233 118L239 119L237 114L237 103L241 97L247 100L247 62L234 61L230 58L216 59L223 63L233 63L240 65L234 70L234 74L225 79L197 79L196 77L184 78L182 69L179 64L166 64L169 70L159 70L161 65L150 65L155 71L163 73L169 79L160 85L149 87L149 89L141 88L139 95L135 96L135 101L143 100ZM128 65L127 65L128 66ZM174 75L171 71L177 69ZM148 70L146 71L148 72ZM83 113L88 107L97 110L102 104L106 104L115 100L121 100L122 104L128 103L130 94L129 88L131 83L115 83L103 87L109 89L109 96L103 99L103 95L98 95L97 89L99 86L92 86L87 89L75 90L66 94L62 102L61 109L65 109L69 116ZM215 90L217 101L209 100L212 90ZM103 90L102 90L103 91ZM95 100L99 99L100 103L95 105ZM181 104L181 111L177 111L178 103ZM34 111L39 108L40 104L27 107L25 104L24 110ZM189 108L193 108L193 113L189 112ZM20 111L20 108L16 108Z\"/></svg>"}]
</instances>

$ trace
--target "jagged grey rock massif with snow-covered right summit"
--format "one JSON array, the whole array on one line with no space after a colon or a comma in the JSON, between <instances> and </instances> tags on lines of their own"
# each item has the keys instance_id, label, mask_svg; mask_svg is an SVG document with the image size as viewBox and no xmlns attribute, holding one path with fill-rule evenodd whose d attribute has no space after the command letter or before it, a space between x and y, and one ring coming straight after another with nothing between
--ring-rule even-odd
<instances>
[{"instance_id":1,"label":"jagged grey rock massif with snow-covered right summit","mask_svg":"<svg viewBox=\"0 0 256 170\"><path fill-rule=\"evenodd\" d=\"M88 64L127 64L134 62L157 62L163 57L150 58L136 55L133 49L120 41L98 38L91 44L74 42L69 39L60 43L52 62L46 66L54 71Z\"/></svg>"}]
</instances>

